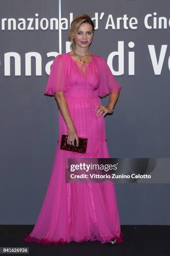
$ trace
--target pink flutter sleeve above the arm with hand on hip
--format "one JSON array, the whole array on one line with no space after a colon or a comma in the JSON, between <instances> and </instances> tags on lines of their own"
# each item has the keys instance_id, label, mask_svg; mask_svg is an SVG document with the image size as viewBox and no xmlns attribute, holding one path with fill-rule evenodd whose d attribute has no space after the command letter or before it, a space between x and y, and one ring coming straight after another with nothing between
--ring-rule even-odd
<instances>
[{"instance_id":1,"label":"pink flutter sleeve above the arm with hand on hip","mask_svg":"<svg viewBox=\"0 0 170 256\"><path fill-rule=\"evenodd\" d=\"M98 87L98 96L105 97L111 92L118 92L122 88L120 84L117 83L114 75L112 74L110 67L108 66L105 59L100 58L100 84Z\"/></svg>"}]
</instances>

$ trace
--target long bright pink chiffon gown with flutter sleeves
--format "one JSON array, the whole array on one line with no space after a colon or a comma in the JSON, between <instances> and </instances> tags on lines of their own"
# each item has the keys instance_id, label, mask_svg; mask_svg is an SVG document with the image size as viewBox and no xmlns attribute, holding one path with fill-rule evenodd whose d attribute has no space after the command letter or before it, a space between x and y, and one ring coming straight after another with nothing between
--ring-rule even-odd
<instances>
[{"instance_id":1,"label":"long bright pink chiffon gown with flutter sleeves","mask_svg":"<svg viewBox=\"0 0 170 256\"><path fill-rule=\"evenodd\" d=\"M84 71L84 72L83 72ZM123 242L113 182L65 183L65 158L109 158L105 136L105 118L97 117L100 97L122 88L107 62L92 54L82 69L69 53L55 57L45 95L63 91L78 137L88 138L85 154L60 150L67 126L59 110L59 137L50 182L37 222L25 242L41 244L70 241L100 241L117 238Z\"/></svg>"}]
</instances>

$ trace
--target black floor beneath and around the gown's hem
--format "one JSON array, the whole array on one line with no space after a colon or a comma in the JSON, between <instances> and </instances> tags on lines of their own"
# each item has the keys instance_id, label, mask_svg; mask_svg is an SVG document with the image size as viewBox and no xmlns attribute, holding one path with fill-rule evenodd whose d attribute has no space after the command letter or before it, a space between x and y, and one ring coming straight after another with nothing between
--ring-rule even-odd
<instances>
[{"instance_id":1,"label":"black floor beneath and around the gown's hem","mask_svg":"<svg viewBox=\"0 0 170 256\"><path fill-rule=\"evenodd\" d=\"M70 242L58 245L25 243L23 237L34 225L0 225L0 247L29 247L31 256L169 256L170 226L122 225L124 243L100 244L99 241ZM2 248L1 248L2 250Z\"/></svg>"}]
</instances>

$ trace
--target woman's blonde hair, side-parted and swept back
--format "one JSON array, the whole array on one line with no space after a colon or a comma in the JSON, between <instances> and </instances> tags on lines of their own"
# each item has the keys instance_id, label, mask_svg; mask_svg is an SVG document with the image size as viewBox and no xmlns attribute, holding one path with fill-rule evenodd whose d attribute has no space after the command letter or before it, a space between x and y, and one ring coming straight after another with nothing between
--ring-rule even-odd
<instances>
[{"instance_id":1,"label":"woman's blonde hair, side-parted and swept back","mask_svg":"<svg viewBox=\"0 0 170 256\"><path fill-rule=\"evenodd\" d=\"M73 38L73 36L75 36L76 32L79 30L80 26L82 23L89 23L92 26L92 32L94 33L95 31L95 25L92 21L92 19L90 18L89 15L87 14L80 14L78 16L76 16L72 22L71 22L71 26L70 26L70 33L68 36L69 41L71 42L70 44L70 50L72 51L74 48L74 44L75 44L75 40Z\"/></svg>"}]
</instances>

